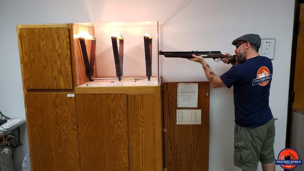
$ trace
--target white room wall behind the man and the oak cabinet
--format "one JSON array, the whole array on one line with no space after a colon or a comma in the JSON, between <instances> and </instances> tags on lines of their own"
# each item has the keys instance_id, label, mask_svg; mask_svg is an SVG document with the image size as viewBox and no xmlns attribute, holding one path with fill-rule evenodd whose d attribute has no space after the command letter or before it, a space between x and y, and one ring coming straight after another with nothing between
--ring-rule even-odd
<instances>
[{"instance_id":1,"label":"white room wall behind the man and the oak cabinet","mask_svg":"<svg viewBox=\"0 0 304 171\"><path fill-rule=\"evenodd\" d=\"M25 118L16 24L163 21L163 51L222 51L233 54L231 41L256 33L275 38L270 106L276 121L275 155L285 147L293 0L0 0L0 110ZM207 61L216 75L230 66ZM185 59L162 58L165 82L207 81L202 67ZM39 79L39 78L37 78ZM233 166L233 90L210 89L209 170ZM17 170L28 153L26 127L16 151ZM261 170L259 166L258 170ZM277 166L277 170L283 170Z\"/></svg>"}]
</instances>

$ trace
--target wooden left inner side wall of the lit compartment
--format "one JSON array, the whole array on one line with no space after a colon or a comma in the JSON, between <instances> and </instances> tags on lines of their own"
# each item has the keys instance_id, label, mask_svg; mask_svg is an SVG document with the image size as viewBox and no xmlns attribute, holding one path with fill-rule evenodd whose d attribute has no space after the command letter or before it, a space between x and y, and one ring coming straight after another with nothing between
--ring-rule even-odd
<instances>
[{"instance_id":1,"label":"wooden left inner side wall of the lit compartment","mask_svg":"<svg viewBox=\"0 0 304 171\"><path fill-rule=\"evenodd\" d=\"M80 32L86 32L92 36L94 36L94 27L90 26L82 26L79 24L73 24L73 31L74 35L78 35ZM96 40L96 43L98 40ZM88 59L90 61L90 53L91 53L91 41L90 40L85 40L85 45L87 48L87 53L88 53ZM85 74L85 64L83 62L83 57L81 53L81 47L80 47L80 42L79 39L74 37L74 47L75 47L75 59L76 59L76 66L77 66L77 85L81 85L85 82L88 82L89 79ZM96 60L95 60L96 62ZM94 66L94 75L92 78L96 77L96 64Z\"/></svg>"}]
</instances>

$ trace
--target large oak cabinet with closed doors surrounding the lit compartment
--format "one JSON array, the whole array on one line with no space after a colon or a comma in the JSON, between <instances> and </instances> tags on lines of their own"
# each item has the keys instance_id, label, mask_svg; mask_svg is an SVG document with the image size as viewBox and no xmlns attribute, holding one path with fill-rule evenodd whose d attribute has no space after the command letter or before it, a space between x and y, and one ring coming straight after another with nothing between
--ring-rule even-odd
<instances>
[{"instance_id":1,"label":"large oak cabinet with closed doors surrounding the lit compartment","mask_svg":"<svg viewBox=\"0 0 304 171\"><path fill-rule=\"evenodd\" d=\"M32 170L162 170L161 86L77 87L73 25L17 26Z\"/></svg>"}]
</instances>

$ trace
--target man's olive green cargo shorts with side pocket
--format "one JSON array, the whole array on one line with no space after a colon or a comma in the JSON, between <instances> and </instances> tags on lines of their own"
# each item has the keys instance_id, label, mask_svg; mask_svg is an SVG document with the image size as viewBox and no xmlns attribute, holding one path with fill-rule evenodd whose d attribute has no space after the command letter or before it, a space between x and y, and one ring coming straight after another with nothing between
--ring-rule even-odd
<instances>
[{"instance_id":1,"label":"man's olive green cargo shorts with side pocket","mask_svg":"<svg viewBox=\"0 0 304 171\"><path fill-rule=\"evenodd\" d=\"M275 120L256 127L234 126L234 165L248 171L256 171L260 162L275 162Z\"/></svg>"}]
</instances>

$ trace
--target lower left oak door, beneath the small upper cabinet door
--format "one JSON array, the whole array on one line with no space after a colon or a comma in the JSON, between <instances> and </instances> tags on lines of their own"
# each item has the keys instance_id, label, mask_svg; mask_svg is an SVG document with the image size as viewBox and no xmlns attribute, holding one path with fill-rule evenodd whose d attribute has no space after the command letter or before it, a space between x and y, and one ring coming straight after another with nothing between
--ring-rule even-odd
<instances>
[{"instance_id":1,"label":"lower left oak door, beneath the small upper cabinet door","mask_svg":"<svg viewBox=\"0 0 304 171\"><path fill-rule=\"evenodd\" d=\"M79 171L75 98L26 94L32 171Z\"/></svg>"}]
</instances>

